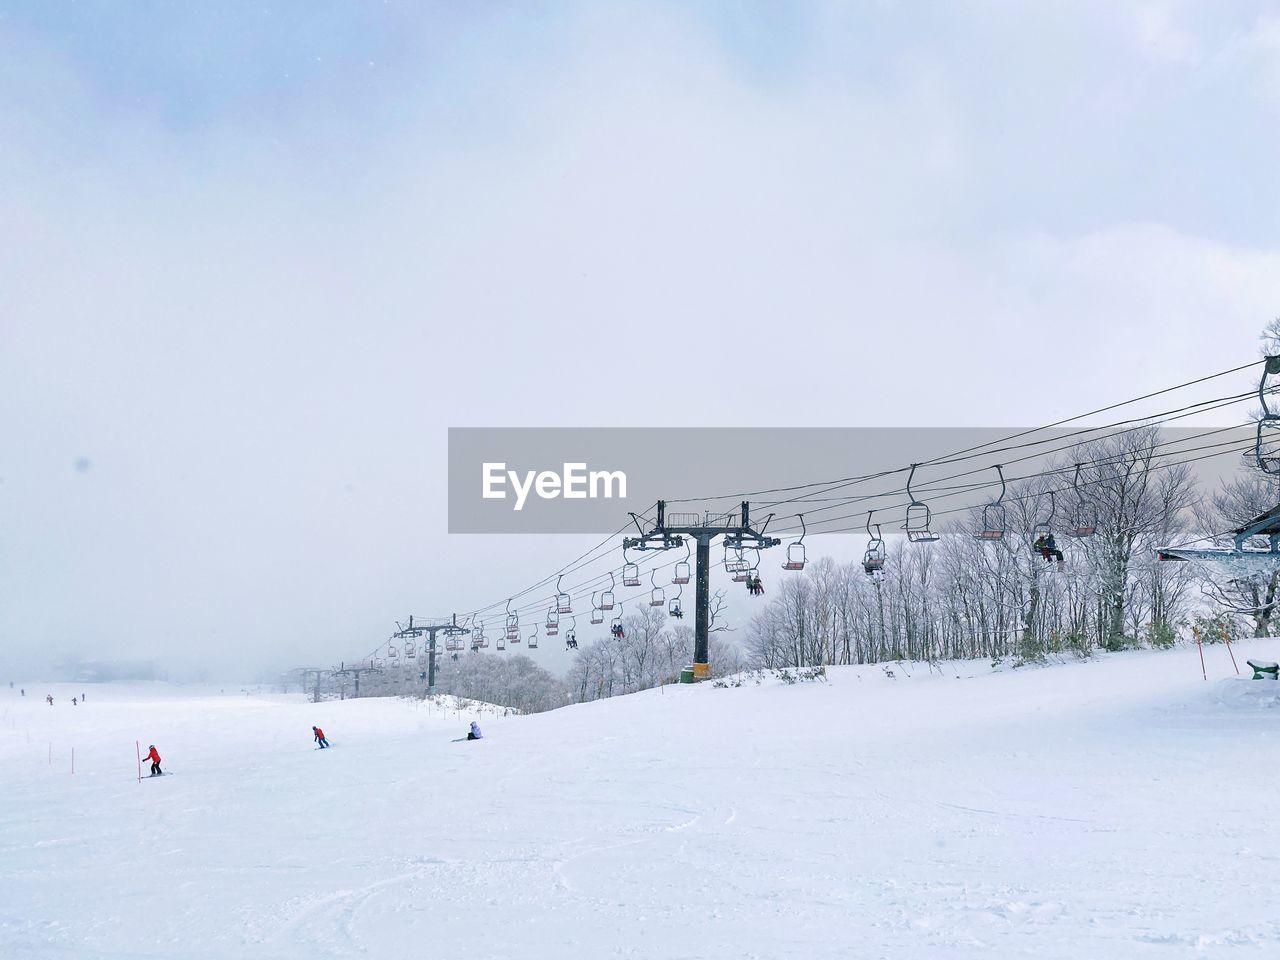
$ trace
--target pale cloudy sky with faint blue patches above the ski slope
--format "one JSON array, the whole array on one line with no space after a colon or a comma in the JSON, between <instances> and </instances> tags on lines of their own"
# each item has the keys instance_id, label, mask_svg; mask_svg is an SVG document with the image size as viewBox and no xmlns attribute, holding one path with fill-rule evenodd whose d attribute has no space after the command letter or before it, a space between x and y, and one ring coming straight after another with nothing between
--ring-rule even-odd
<instances>
[{"instance_id":1,"label":"pale cloudy sky with faint blue patches above the ski slope","mask_svg":"<svg viewBox=\"0 0 1280 960\"><path fill-rule=\"evenodd\" d=\"M0 681L351 659L590 543L449 538L448 426L1033 425L1251 360L1274 10L4 4Z\"/></svg>"}]
</instances>

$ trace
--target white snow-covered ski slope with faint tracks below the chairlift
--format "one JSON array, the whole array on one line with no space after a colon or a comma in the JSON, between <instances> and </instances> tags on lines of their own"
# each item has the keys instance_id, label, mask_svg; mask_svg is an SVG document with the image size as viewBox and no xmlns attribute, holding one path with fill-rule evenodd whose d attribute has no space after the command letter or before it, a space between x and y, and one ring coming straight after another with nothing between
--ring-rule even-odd
<instances>
[{"instance_id":1,"label":"white snow-covered ski slope with faint tracks below the chairlift","mask_svg":"<svg viewBox=\"0 0 1280 960\"><path fill-rule=\"evenodd\" d=\"M1207 657L668 687L479 744L406 701L5 690L0 956L1275 957L1280 685Z\"/></svg>"}]
</instances>

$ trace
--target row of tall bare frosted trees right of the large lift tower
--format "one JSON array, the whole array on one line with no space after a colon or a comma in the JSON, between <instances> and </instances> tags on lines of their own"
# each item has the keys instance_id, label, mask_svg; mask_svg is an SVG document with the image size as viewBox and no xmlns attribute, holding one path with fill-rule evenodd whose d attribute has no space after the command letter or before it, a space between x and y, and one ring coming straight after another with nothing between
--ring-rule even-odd
<instances>
[{"instance_id":1,"label":"row of tall bare frosted trees right of the large lift tower","mask_svg":"<svg viewBox=\"0 0 1280 960\"><path fill-rule=\"evenodd\" d=\"M876 663L892 659L1041 658L1167 645L1207 595L1220 612L1248 613L1266 635L1277 579L1206 577L1188 563L1162 563L1157 548L1221 532L1280 502L1272 477L1245 476L1202 497L1190 468L1164 454L1161 434L1143 428L1074 451L1087 483L1064 489L1061 475L1010 486L1006 532L978 540L980 508L942 530L933 544L893 544L884 570L822 558L781 582L755 616L745 645L753 666ZM1070 476L1069 465L1061 465ZM1064 563L1034 548L1037 526L1057 520ZM1096 526L1091 536L1064 534ZM1043 527L1041 527L1043 530Z\"/></svg>"}]
</instances>

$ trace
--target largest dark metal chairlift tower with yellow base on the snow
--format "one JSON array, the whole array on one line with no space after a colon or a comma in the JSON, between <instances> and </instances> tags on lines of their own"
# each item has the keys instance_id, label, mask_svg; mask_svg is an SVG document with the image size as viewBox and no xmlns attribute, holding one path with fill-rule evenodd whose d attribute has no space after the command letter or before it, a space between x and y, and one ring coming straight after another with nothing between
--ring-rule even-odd
<instances>
[{"instance_id":1,"label":"largest dark metal chairlift tower with yellow base on the snow","mask_svg":"<svg viewBox=\"0 0 1280 960\"><path fill-rule=\"evenodd\" d=\"M782 540L776 536L765 536L764 529L773 517L771 513L764 518L759 530L751 526L751 504L742 500L737 511L728 513L672 513L667 515L667 502L658 500L658 518L646 531L640 526L640 518L632 513L631 520L640 531L640 536L623 539L622 547L628 550L669 550L673 547L682 547L687 536L698 544L698 563L694 579L698 589L694 604L696 617L694 620L694 680L707 680L710 676L710 663L708 659L708 639L710 636L710 561L712 540L717 536L724 538L726 549L767 549L777 547Z\"/></svg>"}]
</instances>

